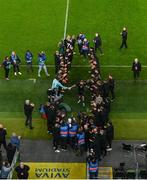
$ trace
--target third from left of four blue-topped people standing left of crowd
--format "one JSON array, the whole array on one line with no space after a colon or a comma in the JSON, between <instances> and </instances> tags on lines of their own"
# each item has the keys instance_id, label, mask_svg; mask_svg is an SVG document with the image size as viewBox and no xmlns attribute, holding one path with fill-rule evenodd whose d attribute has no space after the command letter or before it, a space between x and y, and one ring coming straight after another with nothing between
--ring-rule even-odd
<instances>
[{"instance_id":1,"label":"third from left of four blue-topped people standing left of crowd","mask_svg":"<svg viewBox=\"0 0 147 180\"><path fill-rule=\"evenodd\" d=\"M26 64L27 64L27 72L29 72L29 71L33 72L33 67L32 67L33 54L31 53L30 50L26 51L25 60L26 60Z\"/></svg>"}]
</instances>

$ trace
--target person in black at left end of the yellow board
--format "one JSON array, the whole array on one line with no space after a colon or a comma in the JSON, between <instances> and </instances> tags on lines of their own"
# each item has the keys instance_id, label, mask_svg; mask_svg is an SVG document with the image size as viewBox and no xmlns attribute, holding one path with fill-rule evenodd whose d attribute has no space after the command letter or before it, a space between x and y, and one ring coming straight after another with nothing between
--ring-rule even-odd
<instances>
[{"instance_id":1,"label":"person in black at left end of the yellow board","mask_svg":"<svg viewBox=\"0 0 147 180\"><path fill-rule=\"evenodd\" d=\"M30 167L20 162L19 166L15 168L18 179L28 179Z\"/></svg>"}]
</instances>

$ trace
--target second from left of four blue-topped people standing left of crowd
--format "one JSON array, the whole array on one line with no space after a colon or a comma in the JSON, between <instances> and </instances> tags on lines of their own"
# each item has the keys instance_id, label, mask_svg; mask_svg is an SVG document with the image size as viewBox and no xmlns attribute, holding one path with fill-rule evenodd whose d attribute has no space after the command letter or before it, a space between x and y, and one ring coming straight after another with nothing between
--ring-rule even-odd
<instances>
[{"instance_id":1,"label":"second from left of four blue-topped people standing left of crowd","mask_svg":"<svg viewBox=\"0 0 147 180\"><path fill-rule=\"evenodd\" d=\"M12 51L11 56L10 56L10 61L11 61L11 64L13 65L14 75L17 76L17 73L19 75L22 75L22 73L20 72L20 69L19 69L21 60L18 57L18 55L15 53L15 51Z\"/></svg>"}]
</instances>

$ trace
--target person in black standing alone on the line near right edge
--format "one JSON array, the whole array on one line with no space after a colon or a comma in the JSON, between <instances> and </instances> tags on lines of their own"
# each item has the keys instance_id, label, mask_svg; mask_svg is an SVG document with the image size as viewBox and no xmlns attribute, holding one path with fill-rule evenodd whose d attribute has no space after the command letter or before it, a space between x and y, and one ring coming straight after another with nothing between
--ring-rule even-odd
<instances>
[{"instance_id":1,"label":"person in black standing alone on the line near right edge","mask_svg":"<svg viewBox=\"0 0 147 180\"><path fill-rule=\"evenodd\" d=\"M132 71L134 74L134 80L138 79L141 72L141 63L138 61L137 58L135 58L133 64L132 64Z\"/></svg>"}]
</instances>

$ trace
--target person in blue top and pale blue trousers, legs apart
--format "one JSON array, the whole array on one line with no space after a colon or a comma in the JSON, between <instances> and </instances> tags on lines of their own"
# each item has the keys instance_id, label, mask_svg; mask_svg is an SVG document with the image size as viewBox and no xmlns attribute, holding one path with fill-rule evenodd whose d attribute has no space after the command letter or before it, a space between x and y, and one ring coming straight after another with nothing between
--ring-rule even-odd
<instances>
[{"instance_id":1,"label":"person in blue top and pale blue trousers, legs apart","mask_svg":"<svg viewBox=\"0 0 147 180\"><path fill-rule=\"evenodd\" d=\"M50 76L48 74L48 71L45 65L46 54L43 51L38 54L38 61L39 61L38 77L41 77L40 72L42 71L42 69L44 69L46 76Z\"/></svg>"}]
</instances>

